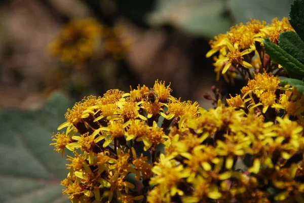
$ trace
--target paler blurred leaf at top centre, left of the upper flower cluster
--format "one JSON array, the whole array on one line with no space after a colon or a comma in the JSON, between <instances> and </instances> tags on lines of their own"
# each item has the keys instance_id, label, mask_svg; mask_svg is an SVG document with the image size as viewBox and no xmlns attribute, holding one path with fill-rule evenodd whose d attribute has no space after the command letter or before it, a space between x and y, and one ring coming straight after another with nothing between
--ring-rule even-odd
<instances>
[{"instance_id":1,"label":"paler blurred leaf at top centre, left of the upper flower cluster","mask_svg":"<svg viewBox=\"0 0 304 203\"><path fill-rule=\"evenodd\" d=\"M223 16L224 9L220 0L158 0L147 20L152 26L170 24L192 35L213 38L232 25Z\"/></svg>"}]
</instances>

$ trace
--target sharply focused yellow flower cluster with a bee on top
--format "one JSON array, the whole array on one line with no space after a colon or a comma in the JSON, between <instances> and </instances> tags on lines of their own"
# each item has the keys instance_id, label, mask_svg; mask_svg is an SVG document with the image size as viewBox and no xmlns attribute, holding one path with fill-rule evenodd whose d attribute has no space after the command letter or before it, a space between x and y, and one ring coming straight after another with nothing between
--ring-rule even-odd
<instances>
[{"instance_id":1,"label":"sharply focused yellow flower cluster with a bee on top","mask_svg":"<svg viewBox=\"0 0 304 203\"><path fill-rule=\"evenodd\" d=\"M66 131L54 135L51 145L62 156L65 148L74 153L67 158L69 173L61 182L72 202L143 198L168 127L180 116L199 115L196 102L180 102L171 91L170 85L157 80L153 89L109 90L67 110L67 121L58 128Z\"/></svg>"}]
</instances>

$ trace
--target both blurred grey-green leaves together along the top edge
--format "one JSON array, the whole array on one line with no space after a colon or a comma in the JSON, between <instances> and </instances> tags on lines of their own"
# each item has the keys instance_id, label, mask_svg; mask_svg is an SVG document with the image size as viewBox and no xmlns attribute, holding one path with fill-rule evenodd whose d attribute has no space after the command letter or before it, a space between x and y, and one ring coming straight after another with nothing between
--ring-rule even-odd
<instances>
[{"instance_id":1,"label":"both blurred grey-green leaves together along the top edge","mask_svg":"<svg viewBox=\"0 0 304 203\"><path fill-rule=\"evenodd\" d=\"M250 18L270 23L275 17L287 16L291 3L292 0L157 0L147 21L153 26L169 24L195 36L213 38Z\"/></svg>"}]
</instances>

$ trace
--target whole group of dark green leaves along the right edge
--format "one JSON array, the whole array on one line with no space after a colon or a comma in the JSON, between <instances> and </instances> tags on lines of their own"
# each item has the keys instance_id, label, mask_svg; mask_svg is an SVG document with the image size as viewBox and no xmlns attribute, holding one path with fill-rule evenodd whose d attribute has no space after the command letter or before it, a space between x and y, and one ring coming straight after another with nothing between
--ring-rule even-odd
<instances>
[{"instance_id":1,"label":"whole group of dark green leaves along the right edge","mask_svg":"<svg viewBox=\"0 0 304 203\"><path fill-rule=\"evenodd\" d=\"M296 32L283 32L279 37L279 46L268 39L264 40L264 47L272 60L283 66L289 74L289 79L281 81L281 85L292 85L304 94L304 1L295 0L291 5L289 22Z\"/></svg>"}]
</instances>

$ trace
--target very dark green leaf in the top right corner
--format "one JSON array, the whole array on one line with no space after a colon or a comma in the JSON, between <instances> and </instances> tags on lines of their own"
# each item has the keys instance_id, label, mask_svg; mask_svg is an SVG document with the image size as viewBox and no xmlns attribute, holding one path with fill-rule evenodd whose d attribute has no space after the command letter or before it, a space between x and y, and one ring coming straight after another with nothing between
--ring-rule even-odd
<instances>
[{"instance_id":1,"label":"very dark green leaf in the top right corner","mask_svg":"<svg viewBox=\"0 0 304 203\"><path fill-rule=\"evenodd\" d=\"M304 1L295 0L291 5L289 22L296 33L304 40Z\"/></svg>"}]
</instances>

